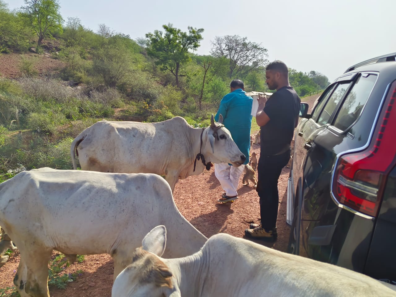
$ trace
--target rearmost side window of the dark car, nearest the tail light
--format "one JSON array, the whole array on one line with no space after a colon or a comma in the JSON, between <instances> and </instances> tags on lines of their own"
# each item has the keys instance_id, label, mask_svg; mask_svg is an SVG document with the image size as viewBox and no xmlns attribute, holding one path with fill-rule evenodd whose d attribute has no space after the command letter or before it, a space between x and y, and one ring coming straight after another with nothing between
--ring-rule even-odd
<instances>
[{"instance_id":1,"label":"rearmost side window of the dark car, nearest the tail light","mask_svg":"<svg viewBox=\"0 0 396 297\"><path fill-rule=\"evenodd\" d=\"M364 74L358 78L341 105L333 126L344 131L356 121L366 105L376 80L377 75L375 74Z\"/></svg>"}]
</instances>

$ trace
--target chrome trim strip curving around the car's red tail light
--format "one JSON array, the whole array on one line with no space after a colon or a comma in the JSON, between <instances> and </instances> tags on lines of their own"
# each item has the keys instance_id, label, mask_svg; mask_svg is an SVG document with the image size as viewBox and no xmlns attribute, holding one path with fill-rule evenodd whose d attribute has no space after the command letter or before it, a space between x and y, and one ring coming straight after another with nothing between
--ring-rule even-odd
<instances>
[{"instance_id":1,"label":"chrome trim strip curving around the car's red tail light","mask_svg":"<svg viewBox=\"0 0 396 297\"><path fill-rule=\"evenodd\" d=\"M359 152L360 150L365 150L365 149L370 145L371 139L373 138L375 126L376 126L376 124L377 124L377 122L378 122L379 114L381 113L382 107L383 107L384 102L385 102L385 99L386 99L386 95L388 94L388 91L389 91L391 85L392 85L392 83L388 84L388 86L387 86L386 89L385 89L385 93L384 93L384 95L382 96L381 103L380 103L380 105L379 105L379 107L378 107L377 114L375 115L375 119L374 119L374 122L373 122L373 126L371 127L370 135L369 135L369 138L367 139L366 144L365 144L364 146L362 146L362 147L353 148L353 149L350 149L350 150L345 150L344 152L340 152L339 154L337 154L337 157L335 158L335 162L334 162L333 168L332 168L333 173L331 173L330 196L331 196L331 199L333 200L333 202L334 202L339 208L346 209L346 210L348 210L348 211L350 211L350 212L352 212L352 213L354 213L354 214L356 214L356 215L359 215L360 217L364 217L365 219L370 219L370 220L374 220L375 217L372 217L371 215L366 215L366 214L361 213L361 212L359 212L359 211L356 211L356 210L354 210L354 209L348 208L348 206L345 206L344 204L341 204L341 203L337 200L337 198L335 198L335 195L334 195L334 193L333 193L333 187L332 187L332 186L333 186L333 181L334 181L334 176L335 176L335 167L336 167L336 165L337 165L337 163L338 163L338 161L339 161L339 158L340 158L341 156L343 156L343 155L345 155L345 154L349 154L349 153L351 153L351 152Z\"/></svg>"}]
</instances>

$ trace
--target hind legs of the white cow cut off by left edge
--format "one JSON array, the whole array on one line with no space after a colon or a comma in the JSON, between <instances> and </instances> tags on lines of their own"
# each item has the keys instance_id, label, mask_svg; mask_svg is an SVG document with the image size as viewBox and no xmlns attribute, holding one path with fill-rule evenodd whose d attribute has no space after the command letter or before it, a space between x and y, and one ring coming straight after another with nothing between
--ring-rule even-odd
<instances>
[{"instance_id":1,"label":"hind legs of the white cow cut off by left edge","mask_svg":"<svg viewBox=\"0 0 396 297\"><path fill-rule=\"evenodd\" d=\"M14 284L21 297L49 297L48 261L52 250L21 251Z\"/></svg>"}]
</instances>

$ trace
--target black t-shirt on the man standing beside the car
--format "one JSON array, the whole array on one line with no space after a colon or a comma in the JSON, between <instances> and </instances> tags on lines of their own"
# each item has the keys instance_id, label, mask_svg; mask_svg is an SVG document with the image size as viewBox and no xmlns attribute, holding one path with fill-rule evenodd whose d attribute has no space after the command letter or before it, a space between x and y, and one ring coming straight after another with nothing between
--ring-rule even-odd
<instances>
[{"instance_id":1,"label":"black t-shirt on the man standing beside the car","mask_svg":"<svg viewBox=\"0 0 396 297\"><path fill-rule=\"evenodd\" d=\"M270 120L261 127L261 155L278 154L290 145L296 118L299 116L300 102L292 87L283 87L265 103L264 112Z\"/></svg>"}]
</instances>

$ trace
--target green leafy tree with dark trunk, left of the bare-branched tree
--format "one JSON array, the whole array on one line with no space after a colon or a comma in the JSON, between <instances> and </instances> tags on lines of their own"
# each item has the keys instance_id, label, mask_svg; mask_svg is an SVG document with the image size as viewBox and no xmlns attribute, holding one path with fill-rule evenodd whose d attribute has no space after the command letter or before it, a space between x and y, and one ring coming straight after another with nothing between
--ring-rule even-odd
<instances>
[{"instance_id":1,"label":"green leafy tree with dark trunk, left of the bare-branched tree","mask_svg":"<svg viewBox=\"0 0 396 297\"><path fill-rule=\"evenodd\" d=\"M161 65L162 70L169 70L179 87L180 65L190 60L188 50L196 50L203 39L201 33L204 29L188 27L188 33L173 27L172 24L162 26L165 32L155 30L154 33L147 33L149 40L147 54L157 59L156 65Z\"/></svg>"}]
</instances>

